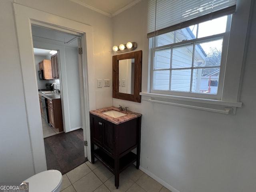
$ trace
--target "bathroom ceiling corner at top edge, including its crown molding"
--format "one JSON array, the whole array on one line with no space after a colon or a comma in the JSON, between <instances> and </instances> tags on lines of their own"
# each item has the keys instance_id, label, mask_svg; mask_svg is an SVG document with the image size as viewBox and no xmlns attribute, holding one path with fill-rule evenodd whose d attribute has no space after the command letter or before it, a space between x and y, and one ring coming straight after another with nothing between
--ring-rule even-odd
<instances>
[{"instance_id":1,"label":"bathroom ceiling corner at top edge, including its crown molding","mask_svg":"<svg viewBox=\"0 0 256 192\"><path fill-rule=\"evenodd\" d=\"M70 0L86 8L112 17L134 6L141 0Z\"/></svg>"}]
</instances>

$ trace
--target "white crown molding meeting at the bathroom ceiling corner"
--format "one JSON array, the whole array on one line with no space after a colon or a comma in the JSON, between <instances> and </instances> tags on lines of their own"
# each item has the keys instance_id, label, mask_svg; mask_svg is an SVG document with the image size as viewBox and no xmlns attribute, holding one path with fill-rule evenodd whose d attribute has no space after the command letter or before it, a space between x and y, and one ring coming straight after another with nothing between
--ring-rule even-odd
<instances>
[{"instance_id":1,"label":"white crown molding meeting at the bathroom ceiling corner","mask_svg":"<svg viewBox=\"0 0 256 192\"><path fill-rule=\"evenodd\" d=\"M123 12L123 11L125 11L125 10L131 8L132 6L136 5L136 4L139 3L141 0L136 0L136 1L134 1L134 2L132 2L132 3L130 3L130 4L128 4L128 5L126 5L126 6L122 7L122 8L120 8L118 11L116 11L116 12L114 12L114 13L112 13L112 14L110 14L110 13L108 13L108 12L105 12L105 11L102 11L102 10L100 10L100 9L94 7L94 6L91 6L91 5L89 5L89 4L85 3L85 2L82 2L82 1L80 1L80 0L70 0L70 1L72 1L72 2L74 2L74 3L76 3L76 4L79 4L79 5L82 5L82 6L88 8L88 9L90 9L90 10L96 11L96 12L98 12L98 13L100 13L100 14L106 15L106 16L108 16L108 17L114 17L114 16L120 14L121 12Z\"/></svg>"}]
</instances>

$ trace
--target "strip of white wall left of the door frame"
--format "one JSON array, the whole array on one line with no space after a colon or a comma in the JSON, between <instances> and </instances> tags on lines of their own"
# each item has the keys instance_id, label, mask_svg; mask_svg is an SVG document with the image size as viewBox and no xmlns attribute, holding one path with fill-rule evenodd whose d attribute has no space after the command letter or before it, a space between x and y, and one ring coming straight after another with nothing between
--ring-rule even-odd
<instances>
[{"instance_id":1,"label":"strip of white wall left of the door frame","mask_svg":"<svg viewBox=\"0 0 256 192\"><path fill-rule=\"evenodd\" d=\"M0 181L20 182L34 172L24 89L10 1L1 1ZM39 107L39 105L38 105ZM22 162L22 165L21 165Z\"/></svg>"}]
</instances>

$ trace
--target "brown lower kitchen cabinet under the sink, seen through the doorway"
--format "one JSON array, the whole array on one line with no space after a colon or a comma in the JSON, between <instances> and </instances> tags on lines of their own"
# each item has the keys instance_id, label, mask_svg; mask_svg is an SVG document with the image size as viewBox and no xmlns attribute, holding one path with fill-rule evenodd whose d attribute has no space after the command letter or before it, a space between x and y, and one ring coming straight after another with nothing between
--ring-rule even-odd
<instances>
[{"instance_id":1,"label":"brown lower kitchen cabinet under the sink, seen through the doorway","mask_svg":"<svg viewBox=\"0 0 256 192\"><path fill-rule=\"evenodd\" d=\"M60 99L47 99L49 123L58 132L63 131L62 108Z\"/></svg>"}]
</instances>

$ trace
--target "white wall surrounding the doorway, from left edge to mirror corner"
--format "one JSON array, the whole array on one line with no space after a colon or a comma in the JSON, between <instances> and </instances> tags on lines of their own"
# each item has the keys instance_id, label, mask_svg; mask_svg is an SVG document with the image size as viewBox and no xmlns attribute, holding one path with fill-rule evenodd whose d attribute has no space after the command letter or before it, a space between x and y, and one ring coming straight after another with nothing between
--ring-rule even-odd
<instances>
[{"instance_id":1,"label":"white wall surrounding the doorway, from left edge to mirror corner","mask_svg":"<svg viewBox=\"0 0 256 192\"><path fill-rule=\"evenodd\" d=\"M35 161L32 156L35 152L32 151L31 138L28 132L28 116L26 115L24 100L26 88L23 87L22 83L13 2L14 0L4 0L1 1L0 6L2 28L0 32L0 81L5 82L2 86L4 92L0 94L1 182L21 182L38 171L34 166ZM112 23L110 18L70 1L63 3L62 0L15 0L15 2L92 26L94 76L111 79L112 54L109 51L112 47ZM22 46L20 46L20 49L22 49ZM96 79L89 79L89 81L94 82L96 87ZM97 108L112 105L111 87L99 89L95 92L95 95ZM35 114L39 114L39 102L33 105L36 105L38 109ZM38 145L43 144L42 141L38 140ZM40 153L43 152L40 151ZM45 156L43 157L44 159L41 161L45 162ZM38 157L34 156L34 158ZM42 168L46 169L46 164L43 163Z\"/></svg>"}]
</instances>

